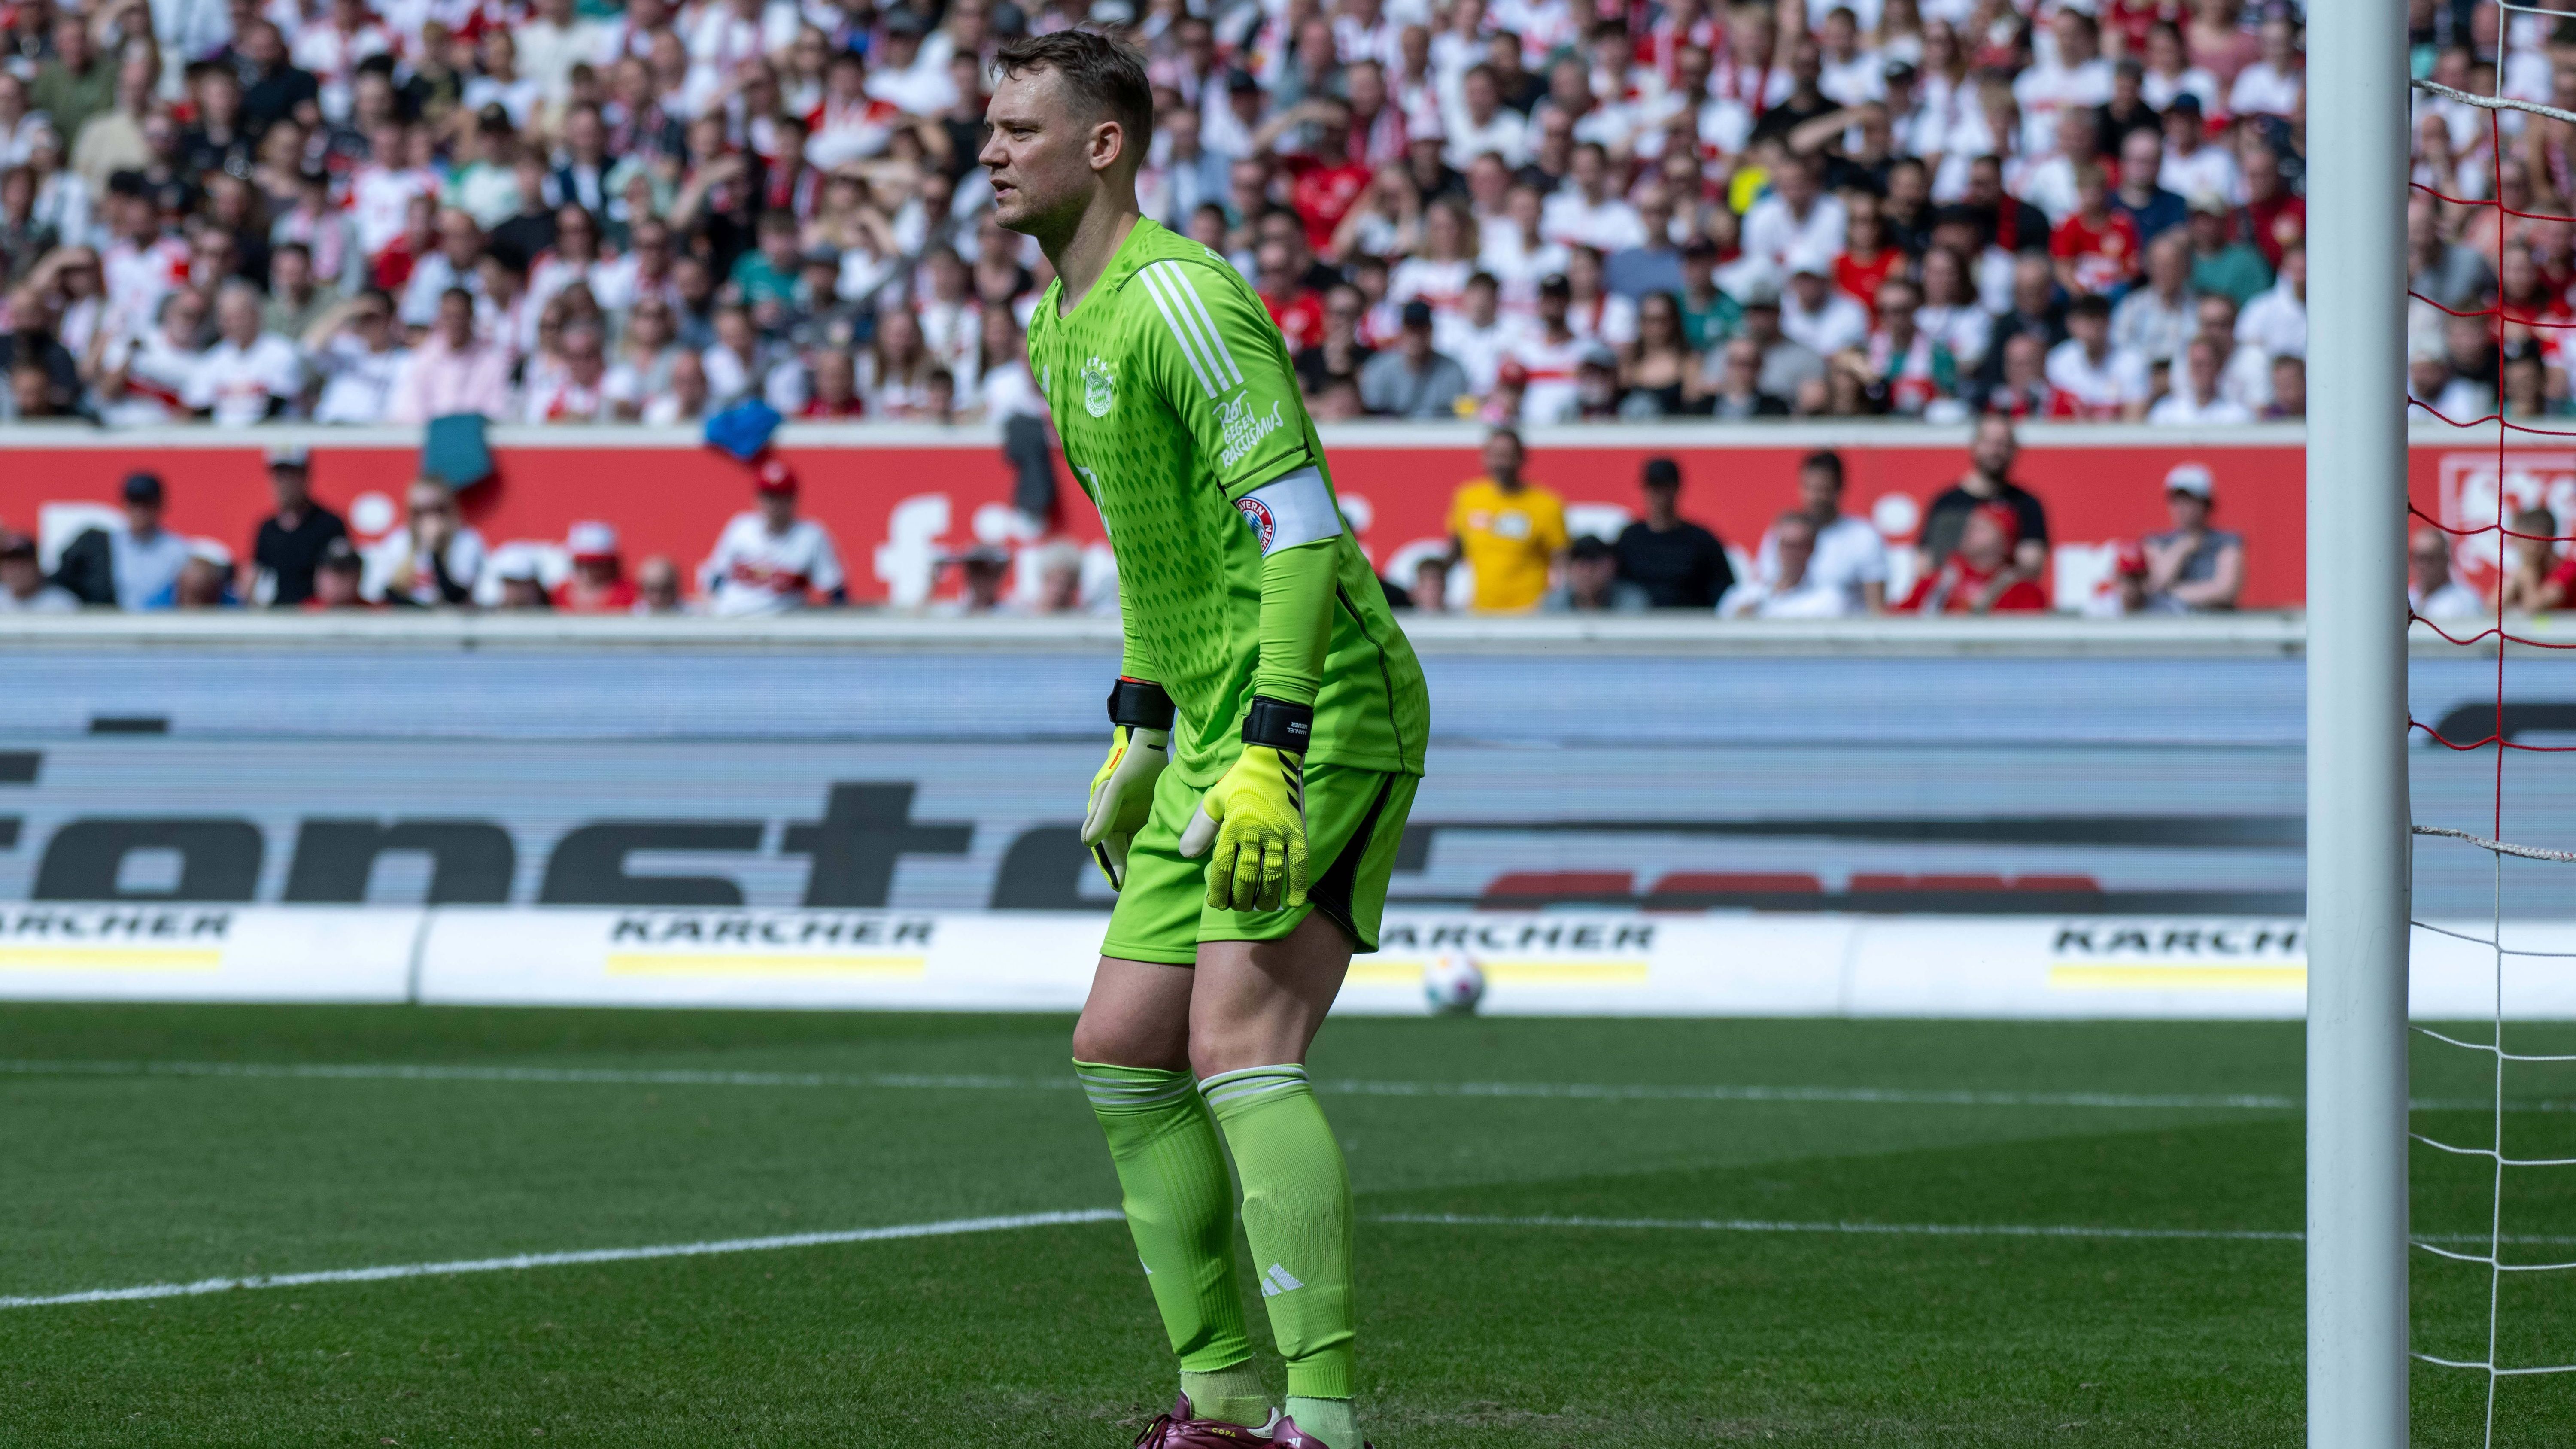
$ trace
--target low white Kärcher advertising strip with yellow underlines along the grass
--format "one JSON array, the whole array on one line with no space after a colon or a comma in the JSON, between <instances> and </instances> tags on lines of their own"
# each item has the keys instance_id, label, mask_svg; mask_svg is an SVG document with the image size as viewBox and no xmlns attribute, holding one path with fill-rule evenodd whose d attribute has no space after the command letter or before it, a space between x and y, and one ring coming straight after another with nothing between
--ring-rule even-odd
<instances>
[{"instance_id":1,"label":"low white K\u00e4rcher advertising strip with yellow underlines along the grass","mask_svg":"<svg viewBox=\"0 0 2576 1449\"><path fill-rule=\"evenodd\" d=\"M2491 1011L2486 920L2419 931L2414 1013ZM2468 938L2463 938L2468 936ZM2571 951L2576 923L2519 923ZM0 998L804 1011L1077 1011L1092 913L0 908ZM2295 918L1862 918L1394 910L1337 1011L1417 1016L1473 957L1504 1016L2295 1018ZM2576 972L2506 972L2576 1016Z\"/></svg>"}]
</instances>

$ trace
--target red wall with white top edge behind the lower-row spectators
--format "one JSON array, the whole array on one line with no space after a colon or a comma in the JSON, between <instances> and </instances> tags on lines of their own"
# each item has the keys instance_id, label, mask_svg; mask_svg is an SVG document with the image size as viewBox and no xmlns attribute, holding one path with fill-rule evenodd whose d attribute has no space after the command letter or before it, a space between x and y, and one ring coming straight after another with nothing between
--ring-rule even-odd
<instances>
[{"instance_id":1,"label":"red wall with white top edge behind the lower-row spectators","mask_svg":"<svg viewBox=\"0 0 2576 1449\"><path fill-rule=\"evenodd\" d=\"M1363 547L1381 572L1406 580L1412 559L1448 534L1450 490L1481 472L1479 431L1340 425L1324 438ZM2022 438L2017 472L2048 503L2061 608L2081 606L2107 575L2117 539L2166 529L2164 474L2184 462L2215 474L2218 526L2246 536L2244 606L2300 603L2298 425L2030 425ZM10 428L0 433L0 523L39 531L59 549L113 516L118 480L147 467L170 485L173 529L240 552L270 508L263 449L281 441L314 449L314 492L361 541L397 526L420 449L417 433L397 428ZM2494 521L2499 498L2576 513L2576 451L2524 441L2517 438L2499 477L2496 446L2476 431L2419 438L2416 505L2458 526ZM1795 503L1798 459L1811 449L1842 451L1847 511L1868 516L1891 541L1914 539L1924 505L1963 472L1968 433L1911 423L1600 425L1538 428L1530 443L1530 474L1566 495L1574 531L1615 534L1636 508L1643 459L1667 454L1690 482L1685 513L1741 554ZM788 425L778 454L804 480L806 513L832 529L855 601L914 606L953 593L943 557L976 541L1012 549L1030 541L1007 508L1012 472L989 428ZM574 521L605 518L618 526L629 565L665 554L696 567L724 521L750 505L750 469L685 428L497 428L495 459L497 477L466 492L466 518L495 547L528 541L554 549L549 557ZM1087 570L1097 583L1108 570L1100 521L1069 480L1059 482L1056 523L1095 549ZM2481 588L2494 580L2494 559L2478 559L2465 541L2460 570ZM1015 572L1012 588L1033 596L1036 570Z\"/></svg>"}]
</instances>

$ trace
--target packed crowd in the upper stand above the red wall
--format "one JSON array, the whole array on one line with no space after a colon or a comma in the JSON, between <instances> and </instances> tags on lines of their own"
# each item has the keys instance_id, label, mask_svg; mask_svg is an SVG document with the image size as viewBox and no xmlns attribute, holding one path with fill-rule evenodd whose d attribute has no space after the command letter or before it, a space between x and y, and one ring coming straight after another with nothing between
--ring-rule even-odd
<instances>
[{"instance_id":1,"label":"packed crowd in the upper stand above the red wall","mask_svg":"<svg viewBox=\"0 0 2576 1449\"><path fill-rule=\"evenodd\" d=\"M2241 0L26 0L0 413L1038 413L974 157L1074 23L1324 420L2303 413L2300 15Z\"/></svg>"}]
</instances>

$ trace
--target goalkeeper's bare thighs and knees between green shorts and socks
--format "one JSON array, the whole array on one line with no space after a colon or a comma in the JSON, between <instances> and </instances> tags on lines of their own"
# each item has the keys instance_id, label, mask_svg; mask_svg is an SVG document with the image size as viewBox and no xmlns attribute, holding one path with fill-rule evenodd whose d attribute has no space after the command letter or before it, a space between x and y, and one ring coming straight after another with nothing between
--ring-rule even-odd
<instances>
[{"instance_id":1,"label":"goalkeeper's bare thighs and knees between green shorts and socks","mask_svg":"<svg viewBox=\"0 0 2576 1449\"><path fill-rule=\"evenodd\" d=\"M1350 936L1321 913L1278 941L1203 941L1198 967L1100 957L1074 1057L1190 1070L1303 1062L1350 972Z\"/></svg>"}]
</instances>

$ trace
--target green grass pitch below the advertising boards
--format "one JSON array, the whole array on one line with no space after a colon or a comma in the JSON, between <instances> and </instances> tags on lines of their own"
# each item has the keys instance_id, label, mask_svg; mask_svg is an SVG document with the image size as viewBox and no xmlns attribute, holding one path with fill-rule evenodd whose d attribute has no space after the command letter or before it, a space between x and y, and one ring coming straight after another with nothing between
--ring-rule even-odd
<instances>
[{"instance_id":1,"label":"green grass pitch below the advertising boards","mask_svg":"<svg viewBox=\"0 0 2576 1449\"><path fill-rule=\"evenodd\" d=\"M8 1006L0 1297L1113 1207L1066 1031ZM2303 1441L2295 1024L1350 1018L1314 1073L1381 1449ZM2421 1044L2414 1091L2491 1140L2478 1057ZM2576 1155L2571 1111L2504 1122ZM2509 1256L2576 1258L2576 1168L2506 1178ZM2488 1189L2419 1150L2416 1232L2481 1253ZM2483 1359L2486 1269L2414 1274L2416 1346ZM2576 1274L2499 1323L2576 1361ZM0 1307L28 1446L1123 1446L1170 1395L1118 1222ZM2414 1395L2419 1444L2481 1441L2483 1374ZM2576 1377L2499 1392L2496 1444L2571 1423Z\"/></svg>"}]
</instances>

